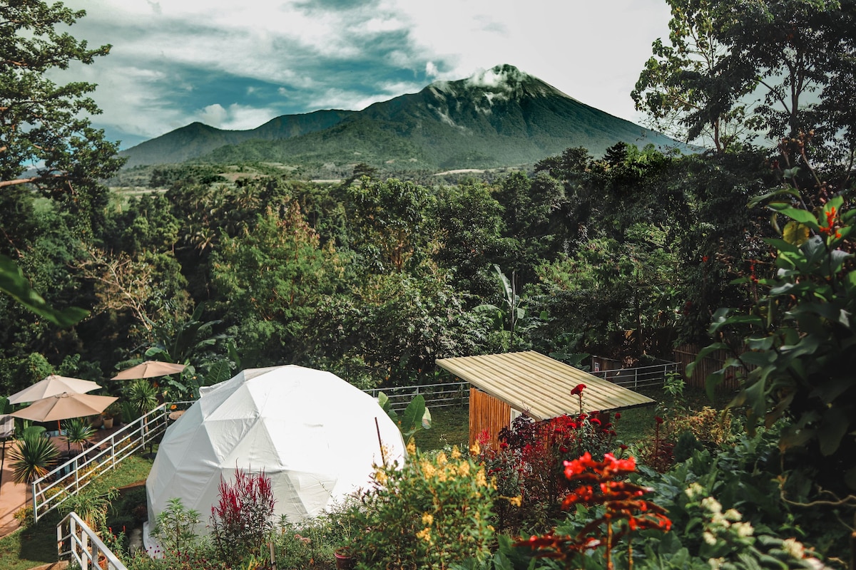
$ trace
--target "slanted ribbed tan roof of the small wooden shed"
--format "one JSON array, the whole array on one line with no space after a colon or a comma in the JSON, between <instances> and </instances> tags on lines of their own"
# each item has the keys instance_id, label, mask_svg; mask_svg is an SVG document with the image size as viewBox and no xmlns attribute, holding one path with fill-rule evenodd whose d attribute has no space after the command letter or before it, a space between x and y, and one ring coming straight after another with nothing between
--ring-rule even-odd
<instances>
[{"instance_id":1,"label":"slanted ribbed tan roof of the small wooden shed","mask_svg":"<svg viewBox=\"0 0 856 570\"><path fill-rule=\"evenodd\" d=\"M650 397L533 350L440 358L437 364L512 408L526 412L534 420L578 414L580 400L572 396L571 391L580 384L586 385L583 391L583 411L586 413L654 403Z\"/></svg>"}]
</instances>

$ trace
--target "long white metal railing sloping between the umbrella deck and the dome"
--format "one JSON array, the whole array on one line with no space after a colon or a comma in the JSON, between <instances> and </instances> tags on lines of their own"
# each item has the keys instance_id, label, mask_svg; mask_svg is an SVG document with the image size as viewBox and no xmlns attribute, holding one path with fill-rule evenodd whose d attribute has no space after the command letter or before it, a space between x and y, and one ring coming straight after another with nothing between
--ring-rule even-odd
<instances>
[{"instance_id":1,"label":"long white metal railing sloping between the umbrella deck and the dome","mask_svg":"<svg viewBox=\"0 0 856 570\"><path fill-rule=\"evenodd\" d=\"M92 449L75 455L33 481L33 519L38 521L68 497L86 488L99 474L113 469L134 451L144 449L146 444L153 444L153 440L166 431L172 405L161 404L111 434L110 438L99 441Z\"/></svg>"}]
</instances>

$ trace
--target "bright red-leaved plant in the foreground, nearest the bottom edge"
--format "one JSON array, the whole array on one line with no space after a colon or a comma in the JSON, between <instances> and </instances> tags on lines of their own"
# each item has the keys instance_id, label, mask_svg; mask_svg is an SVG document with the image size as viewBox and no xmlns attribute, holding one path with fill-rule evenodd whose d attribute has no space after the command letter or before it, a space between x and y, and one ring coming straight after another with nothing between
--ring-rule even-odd
<instances>
[{"instance_id":1,"label":"bright red-leaved plant in the foreground, nearest the bottom edge","mask_svg":"<svg viewBox=\"0 0 856 570\"><path fill-rule=\"evenodd\" d=\"M568 563L575 554L604 546L606 567L612 570L612 549L621 538L630 532L650 528L668 532L672 526L665 509L642 498L650 490L626 480L627 474L634 471L633 457L619 459L611 453L604 455L603 461L593 460L588 452L574 461L565 461L565 477L573 491L562 501L562 509L568 510L578 504L603 505L603 514L591 520L576 536L548 532L517 545L537 550L540 557ZM632 568L630 537L627 537L627 557L627 567Z\"/></svg>"}]
</instances>

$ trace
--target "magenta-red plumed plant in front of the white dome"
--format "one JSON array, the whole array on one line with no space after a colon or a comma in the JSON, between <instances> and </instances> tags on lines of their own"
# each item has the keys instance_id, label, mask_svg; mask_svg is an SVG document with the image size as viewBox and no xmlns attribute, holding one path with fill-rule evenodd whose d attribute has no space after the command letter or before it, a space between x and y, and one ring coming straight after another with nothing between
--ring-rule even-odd
<instances>
[{"instance_id":1,"label":"magenta-red plumed plant in front of the white dome","mask_svg":"<svg viewBox=\"0 0 856 570\"><path fill-rule=\"evenodd\" d=\"M244 473L235 467L235 482L220 479L219 499L211 507L211 529L221 560L240 562L258 554L273 530L276 498L265 472Z\"/></svg>"}]
</instances>

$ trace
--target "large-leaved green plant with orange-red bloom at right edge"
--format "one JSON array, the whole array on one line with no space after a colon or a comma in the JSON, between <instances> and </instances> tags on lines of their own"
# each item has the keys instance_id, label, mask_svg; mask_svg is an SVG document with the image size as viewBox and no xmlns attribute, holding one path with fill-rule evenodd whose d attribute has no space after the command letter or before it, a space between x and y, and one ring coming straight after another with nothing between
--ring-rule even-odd
<instances>
[{"instance_id":1,"label":"large-leaved green plant with orange-red bloom at right edge","mask_svg":"<svg viewBox=\"0 0 856 570\"><path fill-rule=\"evenodd\" d=\"M856 272L848 262L853 213L842 213L843 204L840 196L817 212L789 202L769 204L813 235L799 245L768 240L776 249L775 277L758 279L753 269L744 280L757 291L756 303L746 312L722 309L714 315L710 332L723 342L707 350L730 348L734 356L708 383L712 389L729 370L740 373L744 380L732 405L746 409L749 429L791 420L782 432L782 450L827 458L835 468L823 474L824 485L852 491L856 385L849 346L856 338L850 317L856 310ZM728 344L732 340L734 346Z\"/></svg>"}]
</instances>

